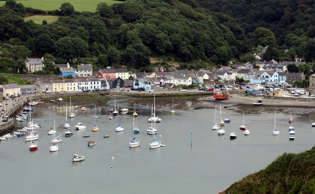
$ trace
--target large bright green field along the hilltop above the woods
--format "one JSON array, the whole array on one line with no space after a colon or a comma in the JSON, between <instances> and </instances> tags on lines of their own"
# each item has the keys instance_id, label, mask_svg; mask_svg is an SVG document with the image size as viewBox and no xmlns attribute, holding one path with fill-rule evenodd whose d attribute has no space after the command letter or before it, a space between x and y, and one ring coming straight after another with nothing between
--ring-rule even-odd
<instances>
[{"instance_id":1,"label":"large bright green field along the hilltop above the woods","mask_svg":"<svg viewBox=\"0 0 315 194\"><path fill-rule=\"evenodd\" d=\"M16 1L16 3L22 3L24 7L31 7L34 9L41 10L56 10L59 9L62 3L71 3L76 11L89 11L95 12L98 3L104 2L108 5L114 3L122 3L121 1L112 0L27 0L27 1ZM0 1L0 6L4 5L5 1Z\"/></svg>"}]
</instances>

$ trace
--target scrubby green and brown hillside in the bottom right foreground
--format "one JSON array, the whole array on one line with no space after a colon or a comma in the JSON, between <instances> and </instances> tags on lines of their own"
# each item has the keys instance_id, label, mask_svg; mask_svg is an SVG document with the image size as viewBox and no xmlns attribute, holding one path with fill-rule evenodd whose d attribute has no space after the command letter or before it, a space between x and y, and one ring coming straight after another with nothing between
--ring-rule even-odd
<instances>
[{"instance_id":1,"label":"scrubby green and brown hillside in the bottom right foreground","mask_svg":"<svg viewBox=\"0 0 315 194\"><path fill-rule=\"evenodd\" d=\"M232 184L221 194L315 193L315 147L299 154L284 153L265 169Z\"/></svg>"}]
</instances>

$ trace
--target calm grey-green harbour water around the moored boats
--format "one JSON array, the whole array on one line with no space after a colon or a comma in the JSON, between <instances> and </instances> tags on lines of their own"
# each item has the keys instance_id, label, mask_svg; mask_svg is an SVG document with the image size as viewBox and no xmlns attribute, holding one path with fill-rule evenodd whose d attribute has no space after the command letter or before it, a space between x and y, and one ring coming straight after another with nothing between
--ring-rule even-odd
<instances>
[{"instance_id":1,"label":"calm grey-green harbour water around the moored boats","mask_svg":"<svg viewBox=\"0 0 315 194\"><path fill-rule=\"evenodd\" d=\"M119 115L123 132L115 132L117 116L109 120L105 108L96 109L100 131L91 132L94 109L83 112L76 109L74 118L67 117L74 134L64 137L66 107L58 106L57 102L49 108L37 105L31 117L42 126L37 130L38 150L29 151L30 142L26 142L23 136L0 143L0 183L3 191L217 193L244 176L265 168L284 152L299 153L314 146L315 127L311 127L314 109L277 109L282 110L277 112L277 128L280 130L277 136L272 135L274 111L271 107L261 106L259 111L253 111L248 116L245 112L245 125L250 131L250 135L245 136L244 131L239 129L243 123L243 108L234 107L228 110L231 123L224 126L226 134L218 136L217 130L212 130L215 109L174 109L176 113L172 115L171 107L164 107L156 109L156 115L162 119L156 126L157 139L161 139L166 147L150 149L152 137L146 129L150 124L151 105L139 105L136 106L138 117L135 125L140 133L135 136L140 140L140 147L129 148L133 107L126 104L119 106L129 108L129 113ZM256 107L249 108L253 110ZM222 111L222 119L226 117L225 111ZM291 111L295 126L294 141L289 140L288 131ZM217 118L219 121L219 109ZM58 143L58 151L50 152L52 135L48 135L48 131L54 120L56 135L62 136L62 142ZM87 128L74 130L79 121ZM26 121L16 123L16 129L23 124ZM91 132L91 136L83 138L84 132ZM231 132L237 134L236 139L230 140ZM110 137L104 138L104 134L110 134ZM96 145L88 146L89 139ZM71 156L76 152L85 156L85 160L72 162Z\"/></svg>"}]
</instances>

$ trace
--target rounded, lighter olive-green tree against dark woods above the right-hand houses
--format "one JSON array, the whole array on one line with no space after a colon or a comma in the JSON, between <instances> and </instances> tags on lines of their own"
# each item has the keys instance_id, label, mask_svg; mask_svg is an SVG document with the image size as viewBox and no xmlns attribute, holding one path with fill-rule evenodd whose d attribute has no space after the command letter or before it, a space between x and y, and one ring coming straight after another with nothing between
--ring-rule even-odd
<instances>
[{"instance_id":1,"label":"rounded, lighter olive-green tree against dark woods above the right-hand houses","mask_svg":"<svg viewBox=\"0 0 315 194\"><path fill-rule=\"evenodd\" d=\"M253 32L254 44L262 46L275 46L276 37L273 32L267 28L259 27Z\"/></svg>"}]
</instances>

